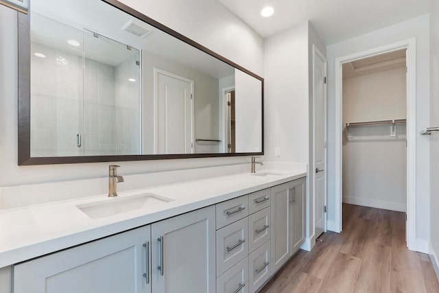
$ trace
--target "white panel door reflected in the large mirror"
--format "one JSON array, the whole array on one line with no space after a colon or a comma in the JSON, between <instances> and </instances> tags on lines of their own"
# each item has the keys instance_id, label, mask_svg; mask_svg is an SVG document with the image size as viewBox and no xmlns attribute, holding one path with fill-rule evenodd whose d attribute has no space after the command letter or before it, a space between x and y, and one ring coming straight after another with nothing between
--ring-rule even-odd
<instances>
[{"instance_id":1,"label":"white panel door reflected in the large mirror","mask_svg":"<svg viewBox=\"0 0 439 293\"><path fill-rule=\"evenodd\" d=\"M155 69L156 154L193 153L193 81Z\"/></svg>"}]
</instances>

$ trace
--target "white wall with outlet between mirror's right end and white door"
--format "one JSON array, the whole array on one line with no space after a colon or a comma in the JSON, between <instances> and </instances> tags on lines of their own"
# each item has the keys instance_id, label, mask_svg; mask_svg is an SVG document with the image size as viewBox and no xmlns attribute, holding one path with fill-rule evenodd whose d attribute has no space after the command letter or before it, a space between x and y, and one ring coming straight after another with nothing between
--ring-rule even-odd
<instances>
[{"instance_id":1,"label":"white wall with outlet between mirror's right end and white door","mask_svg":"<svg viewBox=\"0 0 439 293\"><path fill-rule=\"evenodd\" d=\"M307 21L265 39L265 155L268 161L309 163L309 36ZM324 51L324 46L322 51ZM274 148L281 156L274 156ZM309 180L307 190L309 190ZM309 192L309 191L308 191ZM305 248L313 246L312 193L307 194Z\"/></svg>"}]
</instances>

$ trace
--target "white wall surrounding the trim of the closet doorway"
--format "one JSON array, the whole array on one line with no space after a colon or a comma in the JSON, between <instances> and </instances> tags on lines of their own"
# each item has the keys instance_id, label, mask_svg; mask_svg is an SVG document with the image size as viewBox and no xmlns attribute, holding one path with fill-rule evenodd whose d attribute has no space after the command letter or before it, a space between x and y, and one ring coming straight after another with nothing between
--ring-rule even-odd
<instances>
[{"instance_id":1,"label":"white wall surrounding the trim of the closet doorway","mask_svg":"<svg viewBox=\"0 0 439 293\"><path fill-rule=\"evenodd\" d=\"M385 27L327 47L328 54L328 200L329 222L335 222L335 59L416 37L416 133L429 125L429 15ZM416 136L416 240L429 239L429 141Z\"/></svg>"}]
</instances>

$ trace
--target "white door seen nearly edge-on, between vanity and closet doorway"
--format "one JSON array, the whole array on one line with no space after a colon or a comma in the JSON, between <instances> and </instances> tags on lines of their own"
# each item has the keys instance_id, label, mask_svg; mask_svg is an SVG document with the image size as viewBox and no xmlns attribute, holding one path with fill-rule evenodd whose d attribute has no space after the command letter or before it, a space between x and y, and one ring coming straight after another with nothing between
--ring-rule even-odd
<instances>
[{"instance_id":1,"label":"white door seen nearly edge-on, between vanity and closet doorway","mask_svg":"<svg viewBox=\"0 0 439 293\"><path fill-rule=\"evenodd\" d=\"M313 173L314 173L314 219L315 236L320 236L327 231L326 191L326 161L327 161L327 60L320 54L316 47L313 47L313 104L314 104L314 128L313 128Z\"/></svg>"}]
</instances>

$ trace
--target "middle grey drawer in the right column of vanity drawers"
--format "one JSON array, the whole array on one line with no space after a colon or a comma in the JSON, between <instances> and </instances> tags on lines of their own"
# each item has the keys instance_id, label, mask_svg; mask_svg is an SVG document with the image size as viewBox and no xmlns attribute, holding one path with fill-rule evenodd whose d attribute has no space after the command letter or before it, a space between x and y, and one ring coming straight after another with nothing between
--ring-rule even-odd
<instances>
[{"instance_id":1,"label":"middle grey drawer in the right column of vanity drawers","mask_svg":"<svg viewBox=\"0 0 439 293\"><path fill-rule=\"evenodd\" d=\"M248 217L248 251L251 253L271 237L271 211L267 207Z\"/></svg>"}]
</instances>

